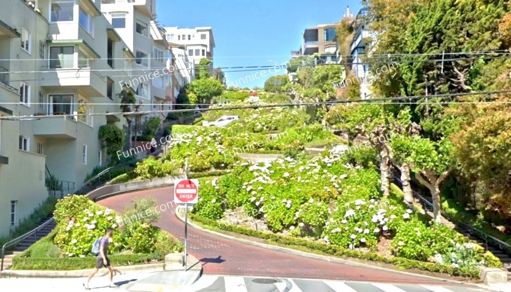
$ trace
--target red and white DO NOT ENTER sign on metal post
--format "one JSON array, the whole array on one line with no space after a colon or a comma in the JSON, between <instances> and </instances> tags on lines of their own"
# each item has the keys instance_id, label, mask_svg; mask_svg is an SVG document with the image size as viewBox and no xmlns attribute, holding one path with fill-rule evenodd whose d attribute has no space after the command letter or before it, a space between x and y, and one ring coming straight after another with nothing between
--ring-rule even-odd
<instances>
[{"instance_id":1,"label":"red and white DO NOT ENTER sign on metal post","mask_svg":"<svg viewBox=\"0 0 511 292\"><path fill-rule=\"evenodd\" d=\"M196 204L199 200L199 181L188 179L188 159L185 161L186 179L174 182L174 201L184 204L184 271L187 270L188 251L188 204Z\"/></svg>"}]
</instances>

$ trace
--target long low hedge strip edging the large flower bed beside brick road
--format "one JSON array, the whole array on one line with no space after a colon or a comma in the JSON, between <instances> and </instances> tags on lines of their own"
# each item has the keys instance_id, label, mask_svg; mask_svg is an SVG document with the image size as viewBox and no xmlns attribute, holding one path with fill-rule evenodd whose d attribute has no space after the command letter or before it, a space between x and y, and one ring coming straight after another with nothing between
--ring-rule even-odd
<instances>
[{"instance_id":1,"label":"long low hedge strip edging the large flower bed beside brick road","mask_svg":"<svg viewBox=\"0 0 511 292\"><path fill-rule=\"evenodd\" d=\"M200 225L209 229L218 230L218 223L215 220L203 218L196 214L190 214L192 220ZM479 271L469 269L454 269L451 265L437 264L431 262L423 262L417 260L410 260L406 258L392 257L387 258L373 252L360 252L357 250L345 249L336 245L323 244L321 242L310 241L307 239L283 236L279 234L273 234L269 232L262 232L258 230L248 229L244 227L234 225L222 224L222 230L236 232L248 236L253 236L261 239L269 240L278 245L289 246L289 247L305 247L312 251L319 251L325 254L339 256L339 257L352 257L371 261L380 261L385 263L393 264L402 269L418 269L422 271L428 271L432 273L449 274L452 276L461 276L467 278L479 279Z\"/></svg>"}]
</instances>

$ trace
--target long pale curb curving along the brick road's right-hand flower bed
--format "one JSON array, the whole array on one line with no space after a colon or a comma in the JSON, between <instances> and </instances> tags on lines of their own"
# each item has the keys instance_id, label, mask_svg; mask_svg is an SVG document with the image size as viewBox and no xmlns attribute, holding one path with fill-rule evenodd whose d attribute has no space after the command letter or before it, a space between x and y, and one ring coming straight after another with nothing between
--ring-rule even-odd
<instances>
[{"instance_id":1,"label":"long pale curb curving along the brick road's right-hand flower bed","mask_svg":"<svg viewBox=\"0 0 511 292\"><path fill-rule=\"evenodd\" d=\"M184 222L184 218L179 215L179 211L180 210L178 210L178 209L182 209L182 208L183 208L182 206L177 206L175 213L176 213L176 217L179 220L181 220L182 222ZM471 284L471 285L475 285L474 283L469 283L469 282L461 282L461 281L456 281L456 280L450 280L450 279L438 278L438 277L433 277L433 276L414 274L414 273L410 273L410 272L392 270L392 269L387 269L386 267L374 266L374 265L369 265L369 264L365 264L365 263L352 262L352 261L340 259L340 258L337 258L337 257L318 255L318 254L313 254L313 253L308 253L308 252L303 252L303 251L297 251L297 250L293 250L293 249L290 249L290 248L284 248L284 247L280 247L280 246L263 244L261 242L255 242L255 241L251 241L251 240L248 240L248 239L238 238L238 237L230 236L230 235L223 234L223 233L220 233L220 232L216 232L216 231L213 231L213 230L209 230L209 229L206 229L206 228L203 228L203 227L200 227L200 226L196 225L195 223L193 223L190 220L188 221L188 224L190 224L192 227L194 227L196 229L199 229L201 231L204 231L204 232L207 232L207 233L210 233L210 234L214 234L216 236L222 236L224 238L228 238L228 239L231 239L231 240L234 240L234 241L238 241L238 242L241 242L243 244L248 244L248 245L251 245L251 246L260 247L260 248L264 248L264 249L268 249L268 250L273 250L273 251L278 251L278 252L283 252L283 253L287 253L287 254L292 254L292 255L297 255L297 256L306 257L306 258L312 258L312 259L318 259L318 260L323 260L323 261L328 261L328 262L342 263L342 264L358 266L358 267L368 267L370 269L381 270L381 271L386 271L386 272L393 272L393 273L400 273L400 274L403 274L403 275L416 276L416 277L417 276L425 277L425 278L430 278L430 279L450 282L450 283L453 283L453 284Z\"/></svg>"}]
</instances>

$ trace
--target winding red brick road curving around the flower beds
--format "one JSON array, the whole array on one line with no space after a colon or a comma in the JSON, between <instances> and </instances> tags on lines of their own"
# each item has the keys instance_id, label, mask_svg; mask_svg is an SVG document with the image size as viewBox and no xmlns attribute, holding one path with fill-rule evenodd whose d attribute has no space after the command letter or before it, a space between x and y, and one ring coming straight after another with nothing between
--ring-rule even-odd
<instances>
[{"instance_id":1,"label":"winding red brick road curving around the flower beds","mask_svg":"<svg viewBox=\"0 0 511 292\"><path fill-rule=\"evenodd\" d=\"M174 199L173 187L126 193L107 198L99 203L122 212L126 206L131 205L132 199L147 197L155 198L158 204L167 204ZM161 212L161 214L160 220L155 225L169 231L183 241L184 224L176 218L174 211L167 210ZM224 237L217 237L190 226L188 229L188 242L188 253L198 258L203 264L204 274L210 275L293 277L444 285L449 283L421 276L331 263L283 252L270 251L230 241Z\"/></svg>"}]
</instances>

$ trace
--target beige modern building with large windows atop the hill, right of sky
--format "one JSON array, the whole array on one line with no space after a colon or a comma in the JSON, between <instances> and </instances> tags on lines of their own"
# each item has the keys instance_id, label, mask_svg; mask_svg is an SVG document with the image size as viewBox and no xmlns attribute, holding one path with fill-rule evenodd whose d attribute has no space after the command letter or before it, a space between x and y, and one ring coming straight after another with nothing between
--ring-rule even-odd
<instances>
[{"instance_id":1,"label":"beige modern building with large windows atop the hill, right of sky","mask_svg":"<svg viewBox=\"0 0 511 292\"><path fill-rule=\"evenodd\" d=\"M305 29L300 50L292 51L291 57L319 54L319 59L324 62L338 62L336 27L336 24L328 24Z\"/></svg>"}]
</instances>

